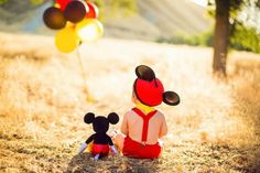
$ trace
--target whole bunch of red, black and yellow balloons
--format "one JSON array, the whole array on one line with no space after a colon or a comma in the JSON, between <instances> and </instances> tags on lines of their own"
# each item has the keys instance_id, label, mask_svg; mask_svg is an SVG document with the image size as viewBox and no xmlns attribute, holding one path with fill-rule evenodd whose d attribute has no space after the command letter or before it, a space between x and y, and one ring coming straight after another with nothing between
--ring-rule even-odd
<instances>
[{"instance_id":1,"label":"whole bunch of red, black and yellow balloons","mask_svg":"<svg viewBox=\"0 0 260 173\"><path fill-rule=\"evenodd\" d=\"M98 8L84 0L56 0L43 14L46 26L59 30L55 45L63 53L73 52L82 42L95 41L102 35L102 24L97 18Z\"/></svg>"}]
</instances>

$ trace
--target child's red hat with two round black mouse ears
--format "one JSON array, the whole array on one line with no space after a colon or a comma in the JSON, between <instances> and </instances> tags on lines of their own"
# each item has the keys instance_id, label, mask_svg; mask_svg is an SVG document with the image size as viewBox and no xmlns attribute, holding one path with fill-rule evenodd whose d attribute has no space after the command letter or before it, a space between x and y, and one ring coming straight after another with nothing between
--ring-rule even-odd
<instances>
[{"instance_id":1,"label":"child's red hat with two round black mouse ears","mask_svg":"<svg viewBox=\"0 0 260 173\"><path fill-rule=\"evenodd\" d=\"M158 106L162 101L170 106L180 104L180 97L174 91L164 91L163 84L155 77L152 68L139 65L136 68L138 78L134 82L134 93L138 99L148 106Z\"/></svg>"}]
</instances>

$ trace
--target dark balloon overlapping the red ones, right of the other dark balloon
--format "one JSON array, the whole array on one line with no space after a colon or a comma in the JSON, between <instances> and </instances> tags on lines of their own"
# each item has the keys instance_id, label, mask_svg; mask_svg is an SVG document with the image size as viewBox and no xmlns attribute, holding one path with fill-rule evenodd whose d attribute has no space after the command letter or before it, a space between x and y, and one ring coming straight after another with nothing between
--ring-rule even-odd
<instances>
[{"instance_id":1,"label":"dark balloon overlapping the red ones, right of the other dark balloon","mask_svg":"<svg viewBox=\"0 0 260 173\"><path fill-rule=\"evenodd\" d=\"M86 8L83 2L77 0L69 2L64 11L65 19L73 23L80 22L85 15Z\"/></svg>"}]
</instances>

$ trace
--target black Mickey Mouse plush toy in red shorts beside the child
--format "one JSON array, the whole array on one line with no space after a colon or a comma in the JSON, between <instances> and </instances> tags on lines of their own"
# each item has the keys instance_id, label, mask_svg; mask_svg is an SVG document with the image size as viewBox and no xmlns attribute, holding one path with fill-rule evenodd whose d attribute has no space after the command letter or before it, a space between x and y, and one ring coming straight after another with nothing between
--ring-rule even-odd
<instances>
[{"instance_id":1,"label":"black Mickey Mouse plush toy in red shorts beside the child","mask_svg":"<svg viewBox=\"0 0 260 173\"><path fill-rule=\"evenodd\" d=\"M82 144L78 153L83 153L90 142L94 142L90 151L95 160L108 155L109 148L115 154L118 153L111 138L107 134L109 123L116 125L119 121L119 117L116 112L109 113L107 118L102 116L95 117L93 112L88 112L84 117L84 121L86 123L93 123L93 129L96 133L91 134L86 142Z\"/></svg>"}]
</instances>

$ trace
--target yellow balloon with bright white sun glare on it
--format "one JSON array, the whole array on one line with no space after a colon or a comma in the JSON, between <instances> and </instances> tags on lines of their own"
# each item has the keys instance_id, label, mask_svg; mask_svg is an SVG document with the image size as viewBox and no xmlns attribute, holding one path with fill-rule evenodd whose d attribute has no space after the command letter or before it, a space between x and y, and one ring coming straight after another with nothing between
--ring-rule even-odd
<instances>
[{"instance_id":1,"label":"yellow balloon with bright white sun glare on it","mask_svg":"<svg viewBox=\"0 0 260 173\"><path fill-rule=\"evenodd\" d=\"M102 36L104 28L97 19L84 19L76 25L78 37L84 41L95 41Z\"/></svg>"}]
</instances>

